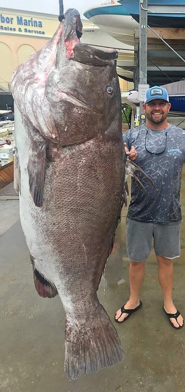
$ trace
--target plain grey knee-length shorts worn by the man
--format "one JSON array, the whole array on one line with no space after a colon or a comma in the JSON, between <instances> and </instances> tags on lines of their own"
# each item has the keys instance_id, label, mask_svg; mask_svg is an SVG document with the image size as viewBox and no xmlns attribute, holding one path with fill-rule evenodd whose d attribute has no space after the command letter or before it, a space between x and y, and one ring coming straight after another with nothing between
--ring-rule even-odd
<instances>
[{"instance_id":1,"label":"plain grey knee-length shorts worn by the man","mask_svg":"<svg viewBox=\"0 0 185 392\"><path fill-rule=\"evenodd\" d=\"M145 261L154 241L156 256L175 259L181 256L181 221L161 225L126 219L127 253L131 261Z\"/></svg>"}]
</instances>

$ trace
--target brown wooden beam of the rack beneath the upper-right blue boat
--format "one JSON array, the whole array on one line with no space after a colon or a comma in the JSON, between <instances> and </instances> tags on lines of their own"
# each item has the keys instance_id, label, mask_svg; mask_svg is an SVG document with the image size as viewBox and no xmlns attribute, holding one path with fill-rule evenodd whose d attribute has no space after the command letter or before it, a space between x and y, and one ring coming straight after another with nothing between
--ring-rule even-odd
<instances>
[{"instance_id":1,"label":"brown wooden beam of the rack beneath the upper-right blue boat","mask_svg":"<svg viewBox=\"0 0 185 392\"><path fill-rule=\"evenodd\" d=\"M160 35L164 40L185 40L185 29L173 29L173 28L153 28L156 33ZM140 29L135 29L135 38L139 38ZM156 37L159 39L150 29L148 29L148 38Z\"/></svg>"}]
</instances>

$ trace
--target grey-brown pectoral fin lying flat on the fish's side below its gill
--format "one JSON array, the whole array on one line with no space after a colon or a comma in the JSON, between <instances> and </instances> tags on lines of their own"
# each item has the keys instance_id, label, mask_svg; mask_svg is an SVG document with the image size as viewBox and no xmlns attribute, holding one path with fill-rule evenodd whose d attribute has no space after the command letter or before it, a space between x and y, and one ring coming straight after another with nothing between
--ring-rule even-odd
<instances>
[{"instance_id":1,"label":"grey-brown pectoral fin lying flat on the fish's side below its gill","mask_svg":"<svg viewBox=\"0 0 185 392\"><path fill-rule=\"evenodd\" d=\"M46 146L40 145L36 152L30 152L27 171L29 191L37 207L42 207L46 166Z\"/></svg>"}]
</instances>

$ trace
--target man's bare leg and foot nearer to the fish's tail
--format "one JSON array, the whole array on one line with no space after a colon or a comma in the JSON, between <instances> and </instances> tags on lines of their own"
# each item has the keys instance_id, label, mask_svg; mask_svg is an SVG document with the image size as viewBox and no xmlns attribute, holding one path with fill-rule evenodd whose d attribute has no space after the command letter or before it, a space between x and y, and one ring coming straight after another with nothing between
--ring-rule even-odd
<instances>
[{"instance_id":1,"label":"man's bare leg and foot nearer to the fish's tail","mask_svg":"<svg viewBox=\"0 0 185 392\"><path fill-rule=\"evenodd\" d=\"M143 283L145 275L145 261L136 262L131 261L129 267L129 281L130 281L130 298L125 304L125 309L135 309L140 304L140 289ZM128 316L127 313L123 313L122 317L121 309L116 312L116 320L122 322L125 317Z\"/></svg>"}]
</instances>

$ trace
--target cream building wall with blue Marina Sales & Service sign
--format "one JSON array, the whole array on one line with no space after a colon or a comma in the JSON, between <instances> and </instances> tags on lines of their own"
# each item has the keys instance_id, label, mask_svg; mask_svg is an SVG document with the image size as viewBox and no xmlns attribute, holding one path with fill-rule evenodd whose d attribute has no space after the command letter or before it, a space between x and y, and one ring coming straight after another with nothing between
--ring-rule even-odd
<instances>
[{"instance_id":1,"label":"cream building wall with blue Marina Sales & Service sign","mask_svg":"<svg viewBox=\"0 0 185 392\"><path fill-rule=\"evenodd\" d=\"M56 15L0 8L0 89L10 91L13 71L45 45L58 24ZM83 27L89 26L91 22L83 22ZM121 91L133 88L132 83L119 80Z\"/></svg>"}]
</instances>

